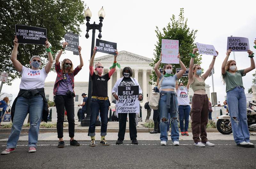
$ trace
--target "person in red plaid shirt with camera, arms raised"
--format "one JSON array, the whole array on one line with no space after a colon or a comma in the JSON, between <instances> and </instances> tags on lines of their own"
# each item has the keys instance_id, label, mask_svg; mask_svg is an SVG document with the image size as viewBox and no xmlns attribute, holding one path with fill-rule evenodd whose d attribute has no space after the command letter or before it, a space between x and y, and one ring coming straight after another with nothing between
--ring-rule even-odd
<instances>
[{"instance_id":1,"label":"person in red plaid shirt with camera, arms raised","mask_svg":"<svg viewBox=\"0 0 256 169\"><path fill-rule=\"evenodd\" d=\"M82 69L84 62L81 55L82 48L78 46L80 64L73 70L73 63L70 59L64 59L60 65L60 56L68 46L67 42L62 44L60 52L55 59L55 70L57 73L56 81L53 88L55 95L54 102L57 110L57 132L59 138L58 148L63 148L65 143L63 141L63 122L65 108L68 117L68 133L70 137L70 145L79 146L80 144L74 139L75 135L75 107L74 107L74 77Z\"/></svg>"}]
</instances>

